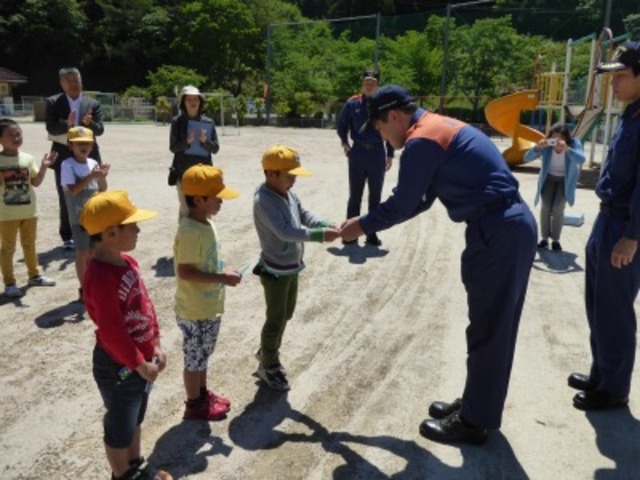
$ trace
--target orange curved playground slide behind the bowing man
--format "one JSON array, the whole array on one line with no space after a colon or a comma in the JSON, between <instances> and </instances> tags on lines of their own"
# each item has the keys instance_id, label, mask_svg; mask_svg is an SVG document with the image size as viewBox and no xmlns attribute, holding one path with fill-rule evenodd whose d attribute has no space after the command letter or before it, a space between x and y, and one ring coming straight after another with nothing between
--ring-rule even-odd
<instances>
[{"instance_id":1,"label":"orange curved playground slide behind the bowing man","mask_svg":"<svg viewBox=\"0 0 640 480\"><path fill-rule=\"evenodd\" d=\"M491 127L512 139L511 147L502 152L510 166L520 165L524 153L544 138L540 133L520 123L523 110L534 110L538 106L538 91L523 90L492 100L484 107L484 114Z\"/></svg>"}]
</instances>

